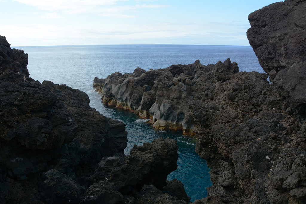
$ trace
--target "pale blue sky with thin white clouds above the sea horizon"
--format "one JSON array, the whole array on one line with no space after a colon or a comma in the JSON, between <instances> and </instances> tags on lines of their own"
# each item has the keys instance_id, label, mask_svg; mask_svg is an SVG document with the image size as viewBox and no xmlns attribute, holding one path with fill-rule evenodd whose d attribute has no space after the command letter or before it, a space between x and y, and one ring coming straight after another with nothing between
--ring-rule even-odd
<instances>
[{"instance_id":1,"label":"pale blue sky with thin white clouds above the sea horizon","mask_svg":"<svg viewBox=\"0 0 306 204\"><path fill-rule=\"evenodd\" d=\"M11 46L249 46L248 15L277 0L0 0Z\"/></svg>"}]
</instances>

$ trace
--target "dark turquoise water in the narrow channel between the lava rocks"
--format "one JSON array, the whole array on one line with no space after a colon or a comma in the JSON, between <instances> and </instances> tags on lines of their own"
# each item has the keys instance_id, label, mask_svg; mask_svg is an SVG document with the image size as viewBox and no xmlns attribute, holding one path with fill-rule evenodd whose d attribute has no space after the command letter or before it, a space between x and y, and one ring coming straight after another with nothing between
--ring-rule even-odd
<instances>
[{"instance_id":1,"label":"dark turquoise water in the narrow channel between the lava rocks","mask_svg":"<svg viewBox=\"0 0 306 204\"><path fill-rule=\"evenodd\" d=\"M206 187L211 186L210 169L207 167L206 161L201 159L194 151L196 138L183 136L181 132L155 130L150 124L146 123L146 120L127 110L104 108L100 107L97 110L100 112L107 111L112 118L124 121L126 124L129 142L125 154L129 154L134 144L142 145L159 137L175 139L178 145L178 168L168 175L168 180L174 178L180 180L192 201L207 196Z\"/></svg>"}]
</instances>

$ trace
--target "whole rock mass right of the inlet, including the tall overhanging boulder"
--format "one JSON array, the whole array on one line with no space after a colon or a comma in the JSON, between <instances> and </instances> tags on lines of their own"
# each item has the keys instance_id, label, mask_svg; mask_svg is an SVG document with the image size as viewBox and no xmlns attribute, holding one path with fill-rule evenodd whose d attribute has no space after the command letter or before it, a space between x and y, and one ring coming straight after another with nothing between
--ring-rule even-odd
<instances>
[{"instance_id":1,"label":"whole rock mass right of the inlet, including the tall overhanging boulder","mask_svg":"<svg viewBox=\"0 0 306 204\"><path fill-rule=\"evenodd\" d=\"M94 86L107 105L197 136L213 185L194 203L306 203L305 13L305 0L286 0L249 15L268 75L226 59L116 72Z\"/></svg>"}]
</instances>

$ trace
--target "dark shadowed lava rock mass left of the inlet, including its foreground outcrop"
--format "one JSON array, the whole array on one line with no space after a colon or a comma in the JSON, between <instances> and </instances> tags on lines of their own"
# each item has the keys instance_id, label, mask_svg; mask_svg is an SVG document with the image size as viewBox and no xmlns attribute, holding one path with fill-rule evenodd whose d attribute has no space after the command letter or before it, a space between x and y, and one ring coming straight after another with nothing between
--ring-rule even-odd
<instances>
[{"instance_id":1,"label":"dark shadowed lava rock mass left of the inlet, including its foreground outcrop","mask_svg":"<svg viewBox=\"0 0 306 204\"><path fill-rule=\"evenodd\" d=\"M0 54L0 203L144 203L146 185L155 203L188 202L175 197L182 187L162 192L177 168L175 140L124 156L124 123L92 109L83 91L29 78L27 55L2 36Z\"/></svg>"}]
</instances>

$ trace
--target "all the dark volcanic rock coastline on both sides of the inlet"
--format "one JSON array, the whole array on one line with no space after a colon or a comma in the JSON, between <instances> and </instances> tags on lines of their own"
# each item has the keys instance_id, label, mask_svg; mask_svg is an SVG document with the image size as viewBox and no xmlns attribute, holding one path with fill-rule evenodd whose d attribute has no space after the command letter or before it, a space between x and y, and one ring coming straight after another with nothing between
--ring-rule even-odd
<instances>
[{"instance_id":1,"label":"all the dark volcanic rock coastline on both sides of the inlet","mask_svg":"<svg viewBox=\"0 0 306 204\"><path fill-rule=\"evenodd\" d=\"M155 128L197 136L212 186L194 204L306 203L305 13L306 0L285 0L249 15L267 74L197 60L116 72L94 87ZM83 91L30 78L27 64L0 36L0 203L189 203L182 183L166 180L175 140L125 156L124 123L92 109Z\"/></svg>"}]
</instances>

